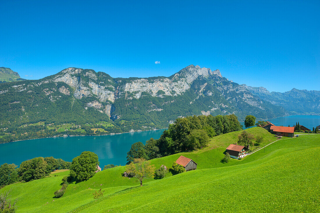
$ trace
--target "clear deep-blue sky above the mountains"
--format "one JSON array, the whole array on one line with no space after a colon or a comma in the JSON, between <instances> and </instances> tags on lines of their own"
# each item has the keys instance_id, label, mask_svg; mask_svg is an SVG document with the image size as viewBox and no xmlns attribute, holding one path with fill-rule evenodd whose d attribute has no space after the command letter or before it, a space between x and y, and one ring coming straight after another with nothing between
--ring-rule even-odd
<instances>
[{"instance_id":1,"label":"clear deep-blue sky above the mountains","mask_svg":"<svg viewBox=\"0 0 320 213\"><path fill-rule=\"evenodd\" d=\"M0 1L0 66L170 76L194 64L239 84L320 90L320 1ZM155 63L160 61L160 63Z\"/></svg>"}]
</instances>

